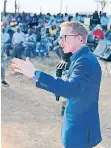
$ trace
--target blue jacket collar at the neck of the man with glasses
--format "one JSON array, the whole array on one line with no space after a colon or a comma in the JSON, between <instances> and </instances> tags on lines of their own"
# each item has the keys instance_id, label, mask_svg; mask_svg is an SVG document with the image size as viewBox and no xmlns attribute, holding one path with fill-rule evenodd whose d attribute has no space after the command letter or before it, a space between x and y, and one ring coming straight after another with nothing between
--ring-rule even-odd
<instances>
[{"instance_id":1,"label":"blue jacket collar at the neck of the man with glasses","mask_svg":"<svg viewBox=\"0 0 111 148\"><path fill-rule=\"evenodd\" d=\"M87 53L89 51L90 51L90 49L88 46L84 46L84 47L80 48L70 57L71 62L76 60L78 57L84 55L85 53Z\"/></svg>"}]
</instances>

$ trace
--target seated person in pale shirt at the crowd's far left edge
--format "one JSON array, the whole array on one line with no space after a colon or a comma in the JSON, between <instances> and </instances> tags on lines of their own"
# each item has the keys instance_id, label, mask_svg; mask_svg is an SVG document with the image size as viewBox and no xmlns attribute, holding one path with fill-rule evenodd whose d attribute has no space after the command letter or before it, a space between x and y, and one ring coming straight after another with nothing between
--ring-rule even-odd
<instances>
[{"instance_id":1,"label":"seated person in pale shirt at the crowd's far left edge","mask_svg":"<svg viewBox=\"0 0 111 148\"><path fill-rule=\"evenodd\" d=\"M6 50L6 45L10 39L10 36L8 33L5 32L5 28L2 28L1 32L1 57L4 56L4 52Z\"/></svg>"}]
</instances>

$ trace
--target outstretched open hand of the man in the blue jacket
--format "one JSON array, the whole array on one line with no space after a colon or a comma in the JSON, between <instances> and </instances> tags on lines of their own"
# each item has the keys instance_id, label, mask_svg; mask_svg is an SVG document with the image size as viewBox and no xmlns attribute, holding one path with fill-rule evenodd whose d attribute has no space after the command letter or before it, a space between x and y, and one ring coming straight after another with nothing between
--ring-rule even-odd
<instances>
[{"instance_id":1,"label":"outstretched open hand of the man in the blue jacket","mask_svg":"<svg viewBox=\"0 0 111 148\"><path fill-rule=\"evenodd\" d=\"M29 78L32 78L36 71L29 58L26 58L26 61L17 58L12 59L12 67L15 72L22 73Z\"/></svg>"}]
</instances>

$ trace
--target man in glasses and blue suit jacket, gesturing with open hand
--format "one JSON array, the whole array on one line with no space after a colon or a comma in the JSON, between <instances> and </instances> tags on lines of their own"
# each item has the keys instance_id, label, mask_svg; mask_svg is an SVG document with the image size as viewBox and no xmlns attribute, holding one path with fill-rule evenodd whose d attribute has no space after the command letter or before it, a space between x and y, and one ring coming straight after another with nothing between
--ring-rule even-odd
<instances>
[{"instance_id":1,"label":"man in glasses and blue suit jacket, gesturing with open hand","mask_svg":"<svg viewBox=\"0 0 111 148\"><path fill-rule=\"evenodd\" d=\"M88 32L79 22L61 24L59 43L71 52L68 80L36 70L27 59L13 59L16 72L36 80L36 87L68 99L63 118L62 143L65 148L92 148L101 142L98 111L101 67L86 46Z\"/></svg>"}]
</instances>

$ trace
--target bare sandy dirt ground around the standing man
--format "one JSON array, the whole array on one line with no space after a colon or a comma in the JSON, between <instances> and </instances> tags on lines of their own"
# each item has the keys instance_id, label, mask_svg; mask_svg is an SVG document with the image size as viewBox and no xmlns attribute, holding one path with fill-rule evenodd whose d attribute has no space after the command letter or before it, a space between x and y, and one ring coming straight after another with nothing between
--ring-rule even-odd
<instances>
[{"instance_id":1,"label":"bare sandy dirt ground around the standing man","mask_svg":"<svg viewBox=\"0 0 111 148\"><path fill-rule=\"evenodd\" d=\"M54 74L59 59L31 59L36 68ZM10 60L4 62L9 88L1 88L2 148L63 148L61 144L61 102L35 87L32 80L15 74ZM104 71L105 64L101 62ZM111 63L110 77L101 82L100 118L103 141L97 148L111 148Z\"/></svg>"}]
</instances>

